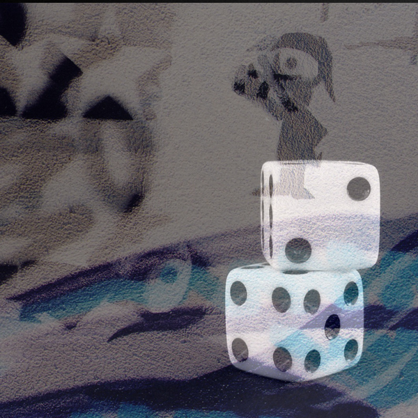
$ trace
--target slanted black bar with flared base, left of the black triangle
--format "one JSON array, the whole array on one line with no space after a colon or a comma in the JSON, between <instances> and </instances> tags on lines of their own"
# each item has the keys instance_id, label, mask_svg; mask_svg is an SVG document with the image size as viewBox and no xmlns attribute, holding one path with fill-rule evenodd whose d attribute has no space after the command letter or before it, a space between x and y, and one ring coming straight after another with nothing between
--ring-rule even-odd
<instances>
[{"instance_id":1,"label":"slanted black bar with flared base, left of the black triangle","mask_svg":"<svg viewBox=\"0 0 418 418\"><path fill-rule=\"evenodd\" d=\"M61 96L67 90L72 79L80 75L82 75L82 70L65 57L49 76L48 86L33 104L26 106L22 112L22 118L48 120L65 118L67 109L61 101Z\"/></svg>"}]
</instances>

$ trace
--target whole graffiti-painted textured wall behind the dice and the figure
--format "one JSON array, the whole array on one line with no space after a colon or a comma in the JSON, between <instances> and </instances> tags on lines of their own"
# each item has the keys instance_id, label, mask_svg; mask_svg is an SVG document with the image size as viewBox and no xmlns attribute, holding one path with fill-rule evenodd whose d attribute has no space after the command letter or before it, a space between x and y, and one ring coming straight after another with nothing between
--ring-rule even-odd
<instances>
[{"instance_id":1,"label":"whole graffiti-painted textured wall behind the dice and the figure","mask_svg":"<svg viewBox=\"0 0 418 418\"><path fill-rule=\"evenodd\" d=\"M234 83L286 33L332 56L315 152L382 193L362 359L307 383L225 335L287 132ZM0 416L418 417L417 56L410 3L1 3Z\"/></svg>"}]
</instances>

